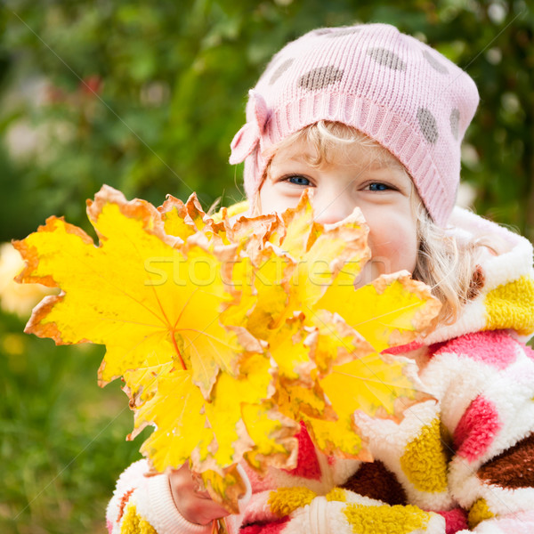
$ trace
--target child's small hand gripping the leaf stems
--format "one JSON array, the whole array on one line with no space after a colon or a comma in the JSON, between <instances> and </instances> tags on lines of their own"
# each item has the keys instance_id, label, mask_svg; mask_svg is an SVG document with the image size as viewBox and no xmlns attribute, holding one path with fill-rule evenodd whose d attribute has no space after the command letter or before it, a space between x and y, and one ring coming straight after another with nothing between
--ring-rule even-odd
<instances>
[{"instance_id":1,"label":"child's small hand gripping the leaf stems","mask_svg":"<svg viewBox=\"0 0 534 534\"><path fill-rule=\"evenodd\" d=\"M169 482L174 505L185 520L206 525L229 514L226 508L209 497L207 491L198 491L198 484L193 480L187 463L169 473Z\"/></svg>"}]
</instances>

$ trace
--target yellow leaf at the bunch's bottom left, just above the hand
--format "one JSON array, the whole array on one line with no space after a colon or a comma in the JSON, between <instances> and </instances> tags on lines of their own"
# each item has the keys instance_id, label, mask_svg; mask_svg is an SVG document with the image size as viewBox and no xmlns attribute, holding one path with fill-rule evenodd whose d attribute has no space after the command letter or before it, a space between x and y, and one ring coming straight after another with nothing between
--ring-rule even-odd
<instances>
[{"instance_id":1,"label":"yellow leaf at the bunch's bottom left, just above the hand","mask_svg":"<svg viewBox=\"0 0 534 534\"><path fill-rule=\"evenodd\" d=\"M275 412L268 401L274 392L269 360L262 354L250 355L241 362L239 373L239 378L225 373L218 377L213 401L200 395L190 371L161 373L157 392L135 410L136 428L156 426L142 450L158 471L190 458L195 472L223 476L251 451L262 454L266 464L279 464L281 457L291 457L293 451L287 447L295 448L295 441L278 441L278 437L294 435L297 425L290 419L273 417ZM182 441L177 443L180 436Z\"/></svg>"}]
</instances>

